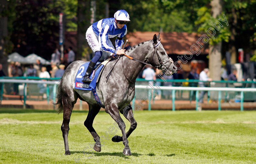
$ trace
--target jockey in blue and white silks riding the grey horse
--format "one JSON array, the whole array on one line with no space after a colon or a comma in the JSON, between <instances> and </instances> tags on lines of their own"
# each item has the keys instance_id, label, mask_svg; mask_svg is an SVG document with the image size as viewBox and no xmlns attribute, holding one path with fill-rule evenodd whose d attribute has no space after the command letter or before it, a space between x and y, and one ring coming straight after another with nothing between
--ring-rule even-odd
<instances>
[{"instance_id":1,"label":"jockey in blue and white silks riding the grey horse","mask_svg":"<svg viewBox=\"0 0 256 164\"><path fill-rule=\"evenodd\" d=\"M90 75L98 60L102 56L102 50L108 53L108 56L116 58L118 55L124 55L125 49L122 49L123 37L127 33L126 23L130 21L129 14L125 10L118 10L114 14L114 18L101 19L93 23L86 32L86 39L94 52L86 70L82 82L91 82ZM112 45L109 38L116 39L116 49Z\"/></svg>"}]
</instances>

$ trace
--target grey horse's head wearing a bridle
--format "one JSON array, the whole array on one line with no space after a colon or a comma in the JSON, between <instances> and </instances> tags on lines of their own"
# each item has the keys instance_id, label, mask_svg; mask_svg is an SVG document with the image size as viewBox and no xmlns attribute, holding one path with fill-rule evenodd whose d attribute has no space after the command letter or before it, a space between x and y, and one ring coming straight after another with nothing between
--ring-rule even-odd
<instances>
[{"instance_id":1,"label":"grey horse's head wearing a bridle","mask_svg":"<svg viewBox=\"0 0 256 164\"><path fill-rule=\"evenodd\" d=\"M167 55L163 45L159 39L160 33L156 36L153 36L151 43L154 47L154 56L150 62L151 65L161 69L167 73L167 75L171 75L172 73L176 72L177 68L175 67L173 61Z\"/></svg>"}]
</instances>

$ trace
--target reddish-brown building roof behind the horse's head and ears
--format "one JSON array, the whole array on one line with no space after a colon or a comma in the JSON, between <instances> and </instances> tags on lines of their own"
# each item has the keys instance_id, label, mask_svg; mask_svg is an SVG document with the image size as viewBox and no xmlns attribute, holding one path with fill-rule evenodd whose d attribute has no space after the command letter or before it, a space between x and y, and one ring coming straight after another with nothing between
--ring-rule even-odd
<instances>
[{"instance_id":1,"label":"reddish-brown building roof behind the horse's head and ears","mask_svg":"<svg viewBox=\"0 0 256 164\"><path fill-rule=\"evenodd\" d=\"M153 39L153 36L158 35L159 32L133 32L126 35L126 38L129 40L130 45L136 45L140 42ZM161 43L167 52L167 54L178 54L184 55L186 51L190 51L190 47L195 44L200 48L200 54L208 54L208 44L205 44L201 41L199 43L203 46L202 48L197 45L196 41L200 38L201 35L196 33L187 33L187 32L161 32L160 38ZM190 51L191 52L191 51ZM193 53L192 53L193 54ZM194 55L194 54L193 54Z\"/></svg>"}]
</instances>

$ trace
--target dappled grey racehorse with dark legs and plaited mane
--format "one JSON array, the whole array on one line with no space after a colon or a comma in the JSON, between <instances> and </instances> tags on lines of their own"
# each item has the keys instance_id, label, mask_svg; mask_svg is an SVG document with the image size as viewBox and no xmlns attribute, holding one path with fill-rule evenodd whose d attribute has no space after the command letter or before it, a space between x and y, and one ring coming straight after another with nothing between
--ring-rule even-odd
<instances>
[{"instance_id":1,"label":"dappled grey racehorse with dark legs and plaited mane","mask_svg":"<svg viewBox=\"0 0 256 164\"><path fill-rule=\"evenodd\" d=\"M133 110L130 105L135 95L135 80L137 76L148 63L169 73L175 72L176 67L160 43L159 34L158 36L154 35L153 39L150 41L142 42L126 50L126 55L129 55L128 57L130 57L130 59L127 56L120 56L118 62L116 62L116 60L108 62L96 85L96 92L105 108L105 112L116 121L122 131L123 136L114 136L112 141L123 141L123 154L129 156L131 155L131 151L127 138L137 127L137 122L133 117ZM91 91L75 89L76 73L84 63L84 61L72 62L65 70L58 88L57 102L55 104L58 106L59 113L63 111L61 130L65 145L65 155L70 155L68 146L69 121L74 104L78 98L82 101L86 101L89 105L89 112L84 121L84 126L86 126L93 136L95 141L94 150L97 152L101 151L100 137L92 126L93 120L101 107L94 99L94 95ZM112 68L112 74L109 76L109 79L106 79L105 77ZM128 132L125 132L126 126L119 112L123 114L131 124Z\"/></svg>"}]
</instances>

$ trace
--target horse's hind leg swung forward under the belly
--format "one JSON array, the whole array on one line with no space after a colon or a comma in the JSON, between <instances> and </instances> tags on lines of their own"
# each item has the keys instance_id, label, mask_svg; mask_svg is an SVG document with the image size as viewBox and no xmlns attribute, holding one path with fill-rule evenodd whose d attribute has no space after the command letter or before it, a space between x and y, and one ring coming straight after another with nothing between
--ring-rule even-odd
<instances>
[{"instance_id":1,"label":"horse's hind leg swung forward under the belly","mask_svg":"<svg viewBox=\"0 0 256 164\"><path fill-rule=\"evenodd\" d=\"M100 111L100 109L101 109L101 107L99 107L99 106L89 105L89 113L87 115L86 120L84 121L84 126L89 130L89 132L91 133L91 135L93 136L93 139L95 141L93 149L96 152L100 152L101 151L101 142L100 142L99 135L96 133L96 131L92 127L92 123L93 123L93 120L94 120L95 116Z\"/></svg>"}]
</instances>

